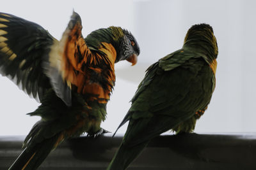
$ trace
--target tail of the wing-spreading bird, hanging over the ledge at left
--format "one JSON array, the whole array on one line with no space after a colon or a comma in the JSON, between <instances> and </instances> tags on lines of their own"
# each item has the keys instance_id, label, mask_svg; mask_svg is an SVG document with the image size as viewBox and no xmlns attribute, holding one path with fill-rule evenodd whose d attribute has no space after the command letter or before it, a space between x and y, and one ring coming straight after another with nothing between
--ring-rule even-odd
<instances>
[{"instance_id":1,"label":"tail of the wing-spreading bird, hanging over the ledge at left","mask_svg":"<svg viewBox=\"0 0 256 170\"><path fill-rule=\"evenodd\" d=\"M19 157L15 160L9 170L14 169L36 169L42 164L47 155L56 147L59 135L52 136L52 138L45 139L41 143L36 143L31 146L28 145Z\"/></svg>"}]
</instances>

